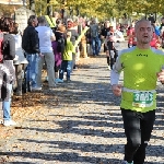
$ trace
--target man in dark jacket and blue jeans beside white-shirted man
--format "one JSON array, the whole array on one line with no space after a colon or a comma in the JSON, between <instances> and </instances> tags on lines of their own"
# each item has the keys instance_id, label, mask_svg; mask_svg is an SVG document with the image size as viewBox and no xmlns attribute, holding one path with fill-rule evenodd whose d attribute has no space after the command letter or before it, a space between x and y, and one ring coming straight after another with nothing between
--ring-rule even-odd
<instances>
[{"instance_id":1,"label":"man in dark jacket and blue jeans beside white-shirted man","mask_svg":"<svg viewBox=\"0 0 164 164\"><path fill-rule=\"evenodd\" d=\"M37 26L37 17L31 15L27 21L27 27L24 30L22 36L22 48L25 51L26 59L28 61L26 68L26 81L28 92L36 87L36 74L37 74L37 58L42 56L39 50L39 38L35 27Z\"/></svg>"}]
</instances>

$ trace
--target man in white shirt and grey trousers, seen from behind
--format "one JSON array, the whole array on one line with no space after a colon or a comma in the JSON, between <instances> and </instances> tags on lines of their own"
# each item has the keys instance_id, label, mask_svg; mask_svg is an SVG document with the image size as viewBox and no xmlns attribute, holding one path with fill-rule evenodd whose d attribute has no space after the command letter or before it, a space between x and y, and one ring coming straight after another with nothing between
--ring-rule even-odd
<instances>
[{"instance_id":1,"label":"man in white shirt and grey trousers, seen from behind","mask_svg":"<svg viewBox=\"0 0 164 164\"><path fill-rule=\"evenodd\" d=\"M37 63L37 78L36 78L36 89L42 90L42 70L43 66L46 62L47 72L48 72L48 86L49 90L54 90L55 87L55 58L51 47L51 42L55 40L55 34L52 30L46 26L46 19L45 16L38 17L38 26L35 28L38 33L39 38L39 49L42 56L38 57Z\"/></svg>"}]
</instances>

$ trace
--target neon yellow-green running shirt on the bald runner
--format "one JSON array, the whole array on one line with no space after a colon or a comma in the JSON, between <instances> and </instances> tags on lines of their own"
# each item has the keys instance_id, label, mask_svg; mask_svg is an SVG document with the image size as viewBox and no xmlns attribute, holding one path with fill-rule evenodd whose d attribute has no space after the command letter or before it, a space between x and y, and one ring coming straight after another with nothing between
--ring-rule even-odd
<instances>
[{"instance_id":1,"label":"neon yellow-green running shirt on the bald runner","mask_svg":"<svg viewBox=\"0 0 164 164\"><path fill-rule=\"evenodd\" d=\"M124 71L121 108L141 113L156 108L156 73L162 66L162 50L132 47L120 52L113 71Z\"/></svg>"}]
</instances>

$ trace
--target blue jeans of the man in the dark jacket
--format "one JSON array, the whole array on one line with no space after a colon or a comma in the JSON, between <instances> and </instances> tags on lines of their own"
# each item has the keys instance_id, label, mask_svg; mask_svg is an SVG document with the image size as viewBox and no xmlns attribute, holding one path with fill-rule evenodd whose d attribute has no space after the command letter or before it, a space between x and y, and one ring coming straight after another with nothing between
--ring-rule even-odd
<instances>
[{"instance_id":1,"label":"blue jeans of the man in the dark jacket","mask_svg":"<svg viewBox=\"0 0 164 164\"><path fill-rule=\"evenodd\" d=\"M28 65L26 67L26 81L32 82L32 87L36 86L36 75L37 75L37 54L25 54Z\"/></svg>"}]
</instances>

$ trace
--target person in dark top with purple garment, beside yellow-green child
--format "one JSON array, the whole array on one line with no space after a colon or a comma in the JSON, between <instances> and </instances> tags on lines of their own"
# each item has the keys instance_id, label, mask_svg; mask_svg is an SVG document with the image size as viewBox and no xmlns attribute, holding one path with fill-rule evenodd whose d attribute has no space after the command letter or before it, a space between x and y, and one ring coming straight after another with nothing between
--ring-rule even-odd
<instances>
[{"instance_id":1,"label":"person in dark top with purple garment, beside yellow-green child","mask_svg":"<svg viewBox=\"0 0 164 164\"><path fill-rule=\"evenodd\" d=\"M61 56L65 50L66 44L66 26L59 25L57 31L55 32L56 40L51 43L54 55L55 55L55 82L62 83L63 80L59 79L59 69L61 67Z\"/></svg>"}]
</instances>

